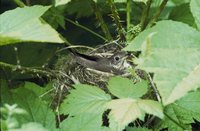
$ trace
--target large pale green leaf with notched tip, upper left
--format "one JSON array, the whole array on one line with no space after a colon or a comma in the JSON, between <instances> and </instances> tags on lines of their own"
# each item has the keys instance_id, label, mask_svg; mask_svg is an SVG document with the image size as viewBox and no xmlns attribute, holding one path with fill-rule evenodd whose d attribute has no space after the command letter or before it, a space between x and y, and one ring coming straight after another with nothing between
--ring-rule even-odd
<instances>
[{"instance_id":1,"label":"large pale green leaf with notched tip, upper left","mask_svg":"<svg viewBox=\"0 0 200 131\"><path fill-rule=\"evenodd\" d=\"M27 41L63 43L59 34L40 18L49 8L36 5L1 14L0 45Z\"/></svg>"}]
</instances>

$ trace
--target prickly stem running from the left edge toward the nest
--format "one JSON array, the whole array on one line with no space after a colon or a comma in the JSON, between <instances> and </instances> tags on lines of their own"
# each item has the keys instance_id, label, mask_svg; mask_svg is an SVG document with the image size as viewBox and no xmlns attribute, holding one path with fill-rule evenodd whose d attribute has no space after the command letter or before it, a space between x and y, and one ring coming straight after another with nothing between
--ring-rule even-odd
<instances>
[{"instance_id":1,"label":"prickly stem running from the left edge toward the nest","mask_svg":"<svg viewBox=\"0 0 200 131\"><path fill-rule=\"evenodd\" d=\"M49 72L49 71L41 70L41 69L34 69L34 68L30 68L30 67L22 67L19 65L12 65L12 64L8 64L8 63L4 63L4 62L0 62L0 69L2 69L2 70L7 69L10 71L17 71L22 74L34 74L37 76L45 76L45 77L49 77L49 78L56 77L56 75L53 72Z\"/></svg>"}]
</instances>

